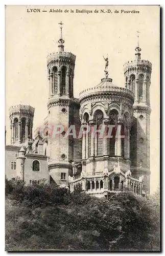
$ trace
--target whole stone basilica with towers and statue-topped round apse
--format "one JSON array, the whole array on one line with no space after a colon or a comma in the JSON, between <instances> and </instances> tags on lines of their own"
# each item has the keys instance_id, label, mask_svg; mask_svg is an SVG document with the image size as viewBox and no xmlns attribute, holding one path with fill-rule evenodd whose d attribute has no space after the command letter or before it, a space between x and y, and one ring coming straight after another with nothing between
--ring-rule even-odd
<instances>
[{"instance_id":1,"label":"whole stone basilica with towers and statue-topped round apse","mask_svg":"<svg viewBox=\"0 0 165 256\"><path fill-rule=\"evenodd\" d=\"M34 108L18 104L9 110L11 144L6 145L6 176L17 176L26 184L41 180L69 187L77 184L89 195L108 197L130 190L145 195L150 189L150 81L152 64L141 59L137 45L134 60L124 65L125 88L114 86L108 74L98 85L74 98L76 56L64 51L60 23L58 51L47 57L48 116L32 137ZM51 136L49 127L75 124L90 127L81 138ZM112 128L111 136L100 136L102 127ZM120 126L124 136L115 136ZM95 136L92 132L95 131ZM106 131L106 129L105 129ZM108 131L107 131L108 133Z\"/></svg>"}]
</instances>

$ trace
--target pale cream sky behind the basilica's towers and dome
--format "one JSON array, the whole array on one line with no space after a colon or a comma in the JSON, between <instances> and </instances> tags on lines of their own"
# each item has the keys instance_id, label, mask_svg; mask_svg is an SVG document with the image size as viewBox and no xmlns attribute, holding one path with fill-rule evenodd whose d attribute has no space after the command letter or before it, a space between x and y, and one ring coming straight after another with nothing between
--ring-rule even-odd
<instances>
[{"instance_id":1,"label":"pale cream sky behind the basilica's towers and dome","mask_svg":"<svg viewBox=\"0 0 165 256\"><path fill-rule=\"evenodd\" d=\"M30 9L40 9L31 12ZM50 12L61 9L63 12ZM69 12L64 12L67 9ZM74 10L74 13L70 12ZM76 13L92 10L92 13ZM105 13L100 10L104 9ZM111 10L110 13L106 12ZM136 10L125 13L121 10ZM29 10L29 12L27 11ZM47 12L42 12L47 10ZM98 10L99 12L94 12ZM118 10L119 13L114 11ZM96 86L104 77L108 54L109 77L124 87L123 65L135 59L137 33L142 59L152 62L150 87L151 193L159 182L159 7L157 6L6 6L6 142L10 143L9 108L18 103L35 108L33 131L47 115L48 80L46 56L58 51L62 20L64 50L76 55L74 96Z\"/></svg>"}]
</instances>

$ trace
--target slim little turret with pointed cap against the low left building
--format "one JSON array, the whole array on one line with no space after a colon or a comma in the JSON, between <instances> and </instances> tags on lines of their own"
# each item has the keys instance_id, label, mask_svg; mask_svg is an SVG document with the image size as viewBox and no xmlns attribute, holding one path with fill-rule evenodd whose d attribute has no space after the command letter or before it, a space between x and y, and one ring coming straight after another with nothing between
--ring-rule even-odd
<instances>
[{"instance_id":1,"label":"slim little turret with pointed cap against the low left building","mask_svg":"<svg viewBox=\"0 0 165 256\"><path fill-rule=\"evenodd\" d=\"M21 146L20 151L17 156L17 170L16 170L16 176L18 176L21 180L25 180L25 149L23 146Z\"/></svg>"}]
</instances>

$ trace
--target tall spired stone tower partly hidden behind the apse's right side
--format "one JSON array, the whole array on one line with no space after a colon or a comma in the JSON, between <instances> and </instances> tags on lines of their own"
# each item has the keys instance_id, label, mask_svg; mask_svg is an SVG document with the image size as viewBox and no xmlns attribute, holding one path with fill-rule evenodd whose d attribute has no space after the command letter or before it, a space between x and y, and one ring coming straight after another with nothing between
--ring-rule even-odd
<instances>
[{"instance_id":1,"label":"tall spired stone tower partly hidden behind the apse's right side","mask_svg":"<svg viewBox=\"0 0 165 256\"><path fill-rule=\"evenodd\" d=\"M134 93L133 120L130 132L131 172L143 176L150 191L150 83L152 64L140 58L139 44L135 60L124 65L125 87Z\"/></svg>"}]
</instances>

